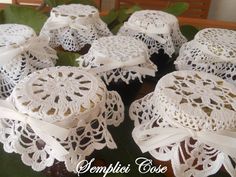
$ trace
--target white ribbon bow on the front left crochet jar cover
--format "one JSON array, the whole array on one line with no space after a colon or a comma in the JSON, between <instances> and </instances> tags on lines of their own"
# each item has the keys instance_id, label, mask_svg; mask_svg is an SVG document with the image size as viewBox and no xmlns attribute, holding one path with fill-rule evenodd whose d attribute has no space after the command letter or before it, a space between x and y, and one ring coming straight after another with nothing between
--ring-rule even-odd
<instances>
[{"instance_id":1,"label":"white ribbon bow on the front left crochet jar cover","mask_svg":"<svg viewBox=\"0 0 236 177\"><path fill-rule=\"evenodd\" d=\"M9 119L28 124L35 134L51 147L52 151L50 153L52 153L57 160L63 160L69 153L56 140L56 138L65 140L69 134L68 129L21 114L16 111L9 100L0 100L0 112L0 119Z\"/></svg>"}]
</instances>

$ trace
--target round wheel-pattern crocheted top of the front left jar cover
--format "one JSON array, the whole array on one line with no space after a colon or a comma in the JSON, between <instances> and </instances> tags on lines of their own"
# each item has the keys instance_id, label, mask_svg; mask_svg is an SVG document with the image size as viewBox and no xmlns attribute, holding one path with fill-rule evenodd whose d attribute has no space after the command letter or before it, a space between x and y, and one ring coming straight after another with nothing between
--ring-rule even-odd
<instances>
[{"instance_id":1,"label":"round wheel-pattern crocheted top of the front left jar cover","mask_svg":"<svg viewBox=\"0 0 236 177\"><path fill-rule=\"evenodd\" d=\"M92 111L104 102L105 93L106 86L93 75L75 67L53 67L23 79L11 98L19 112L55 122Z\"/></svg>"}]
</instances>

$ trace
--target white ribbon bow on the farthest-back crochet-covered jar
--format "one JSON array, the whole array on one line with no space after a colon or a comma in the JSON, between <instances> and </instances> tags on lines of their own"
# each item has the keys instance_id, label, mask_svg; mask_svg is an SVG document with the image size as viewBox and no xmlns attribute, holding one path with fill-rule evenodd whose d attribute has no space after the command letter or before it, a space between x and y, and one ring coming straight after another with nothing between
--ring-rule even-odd
<instances>
[{"instance_id":1,"label":"white ribbon bow on the farthest-back crochet-covered jar","mask_svg":"<svg viewBox=\"0 0 236 177\"><path fill-rule=\"evenodd\" d=\"M57 30L64 27L70 27L73 29L83 29L88 30L88 24L94 24L96 20L99 19L99 14L93 14L92 16L63 16L56 15L54 12L51 13L46 25L45 30Z\"/></svg>"}]
</instances>

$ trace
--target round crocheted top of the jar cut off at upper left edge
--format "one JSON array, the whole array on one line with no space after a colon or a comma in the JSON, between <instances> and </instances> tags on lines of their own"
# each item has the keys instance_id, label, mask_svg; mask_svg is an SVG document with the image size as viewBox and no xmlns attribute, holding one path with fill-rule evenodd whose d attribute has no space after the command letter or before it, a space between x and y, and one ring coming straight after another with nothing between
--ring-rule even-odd
<instances>
[{"instance_id":1,"label":"round crocheted top of the jar cut off at upper left edge","mask_svg":"<svg viewBox=\"0 0 236 177\"><path fill-rule=\"evenodd\" d=\"M2 24L0 25L0 48L20 46L36 34L34 30L25 25Z\"/></svg>"}]
</instances>

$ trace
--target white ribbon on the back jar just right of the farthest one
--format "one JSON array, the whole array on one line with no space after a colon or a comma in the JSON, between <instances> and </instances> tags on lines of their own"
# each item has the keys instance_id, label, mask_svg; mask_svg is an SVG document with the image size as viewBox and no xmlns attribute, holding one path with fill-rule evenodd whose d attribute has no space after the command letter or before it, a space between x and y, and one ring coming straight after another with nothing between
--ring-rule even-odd
<instances>
[{"instance_id":1,"label":"white ribbon on the back jar just right of the farthest one","mask_svg":"<svg viewBox=\"0 0 236 177\"><path fill-rule=\"evenodd\" d=\"M128 28L128 29L131 29L131 30L134 30L134 31L144 33L147 36L149 36L150 38L158 41L161 44L165 44L167 41L166 41L166 39L164 39L160 35L170 33L170 28L167 24L160 24L158 26L149 24L146 27L142 27L139 24L132 24L132 23L129 23L129 22L125 22L124 27Z\"/></svg>"}]
</instances>

